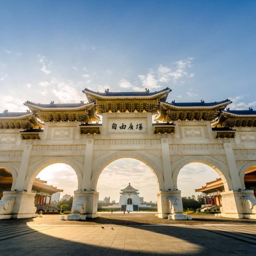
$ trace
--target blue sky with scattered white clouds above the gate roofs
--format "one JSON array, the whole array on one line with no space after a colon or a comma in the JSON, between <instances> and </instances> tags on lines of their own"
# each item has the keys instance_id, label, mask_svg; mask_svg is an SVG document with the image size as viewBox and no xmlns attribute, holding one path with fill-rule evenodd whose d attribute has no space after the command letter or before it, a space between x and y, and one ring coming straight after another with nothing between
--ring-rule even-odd
<instances>
[{"instance_id":1,"label":"blue sky with scattered white clouds above the gate roofs","mask_svg":"<svg viewBox=\"0 0 256 256\"><path fill-rule=\"evenodd\" d=\"M256 108L255 1L0 1L0 111L85 87ZM203 184L202 184L203 185Z\"/></svg>"}]
</instances>

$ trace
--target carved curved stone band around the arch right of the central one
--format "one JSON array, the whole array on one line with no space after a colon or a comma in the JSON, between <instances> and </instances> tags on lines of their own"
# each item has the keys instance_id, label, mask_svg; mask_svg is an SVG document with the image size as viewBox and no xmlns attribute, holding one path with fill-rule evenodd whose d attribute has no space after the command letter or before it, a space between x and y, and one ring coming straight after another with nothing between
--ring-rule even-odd
<instances>
[{"instance_id":1,"label":"carved curved stone band around the arch right of the central one","mask_svg":"<svg viewBox=\"0 0 256 256\"><path fill-rule=\"evenodd\" d=\"M177 177L178 177L178 174L179 174L179 171L181 170L181 168L183 168L183 166L185 166L186 164L193 163L193 162L202 162L204 164L208 164L209 166L216 167L218 170L220 170L220 172L225 177L229 189L232 189L232 181L231 181L230 176L224 166L220 166L220 164L213 161L210 157L208 158L208 157L204 157L204 156L194 156L194 157L185 158L183 161L180 161L179 164L177 164L176 168L174 169L174 172L172 175L172 182L173 182L174 190L177 189Z\"/></svg>"}]
</instances>

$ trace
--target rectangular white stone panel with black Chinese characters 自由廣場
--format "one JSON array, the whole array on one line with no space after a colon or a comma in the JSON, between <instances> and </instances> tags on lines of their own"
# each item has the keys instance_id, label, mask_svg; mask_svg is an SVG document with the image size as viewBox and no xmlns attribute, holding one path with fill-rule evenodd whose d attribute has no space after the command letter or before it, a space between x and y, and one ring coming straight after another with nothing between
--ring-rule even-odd
<instances>
[{"instance_id":1,"label":"rectangular white stone panel with black Chinese characters \u81ea\u7531\u5ee3\u5834","mask_svg":"<svg viewBox=\"0 0 256 256\"><path fill-rule=\"evenodd\" d=\"M146 118L108 118L108 133L147 133Z\"/></svg>"}]
</instances>

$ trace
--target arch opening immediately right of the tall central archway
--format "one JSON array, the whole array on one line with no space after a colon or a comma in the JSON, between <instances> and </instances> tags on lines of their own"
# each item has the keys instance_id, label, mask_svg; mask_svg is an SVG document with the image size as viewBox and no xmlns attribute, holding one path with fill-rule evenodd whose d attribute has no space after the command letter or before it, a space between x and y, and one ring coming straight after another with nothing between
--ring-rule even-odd
<instances>
[{"instance_id":1,"label":"arch opening immediately right of the tall central archway","mask_svg":"<svg viewBox=\"0 0 256 256\"><path fill-rule=\"evenodd\" d=\"M220 212L221 192L228 189L226 174L216 166L203 161L188 162L181 168L177 188L181 190L183 210L193 212Z\"/></svg>"}]
</instances>

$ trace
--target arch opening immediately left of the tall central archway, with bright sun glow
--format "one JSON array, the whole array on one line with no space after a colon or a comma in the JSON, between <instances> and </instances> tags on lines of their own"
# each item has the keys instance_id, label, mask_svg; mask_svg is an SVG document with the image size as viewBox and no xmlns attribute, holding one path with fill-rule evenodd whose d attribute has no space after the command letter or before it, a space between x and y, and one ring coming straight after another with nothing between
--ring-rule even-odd
<instances>
[{"instance_id":1,"label":"arch opening immediately left of the tall central archway, with bright sun glow","mask_svg":"<svg viewBox=\"0 0 256 256\"><path fill-rule=\"evenodd\" d=\"M74 191L78 187L75 170L68 164L54 163L34 174L31 191L36 193L35 207L39 212L70 212Z\"/></svg>"}]
</instances>

